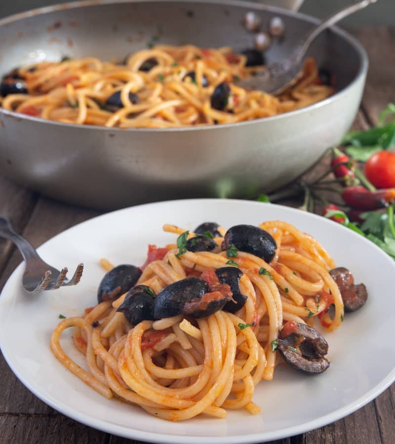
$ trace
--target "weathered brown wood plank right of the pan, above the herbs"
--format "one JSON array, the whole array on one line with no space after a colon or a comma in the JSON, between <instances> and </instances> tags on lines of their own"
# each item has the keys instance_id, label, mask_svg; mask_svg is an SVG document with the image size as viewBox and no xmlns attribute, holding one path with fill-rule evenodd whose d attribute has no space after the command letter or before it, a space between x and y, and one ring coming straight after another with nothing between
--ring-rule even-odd
<instances>
[{"instance_id":1,"label":"weathered brown wood plank right of the pan, above the herbs","mask_svg":"<svg viewBox=\"0 0 395 444\"><path fill-rule=\"evenodd\" d=\"M362 107L370 123L377 123L379 113L389 102L395 103L395 28L372 27L353 30L369 55L369 72Z\"/></svg>"}]
</instances>

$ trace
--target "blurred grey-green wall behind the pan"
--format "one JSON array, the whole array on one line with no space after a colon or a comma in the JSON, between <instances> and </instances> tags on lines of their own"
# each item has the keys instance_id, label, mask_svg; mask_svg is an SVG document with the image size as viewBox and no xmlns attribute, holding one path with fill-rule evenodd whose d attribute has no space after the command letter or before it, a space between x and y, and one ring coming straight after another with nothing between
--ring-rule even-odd
<instances>
[{"instance_id":1,"label":"blurred grey-green wall behind the pan","mask_svg":"<svg viewBox=\"0 0 395 444\"><path fill-rule=\"evenodd\" d=\"M324 17L352 1L354 0L305 0L301 12ZM62 0L0 0L0 17L61 2ZM378 0L376 4L357 12L343 23L349 26L369 24L395 26L395 0Z\"/></svg>"}]
</instances>

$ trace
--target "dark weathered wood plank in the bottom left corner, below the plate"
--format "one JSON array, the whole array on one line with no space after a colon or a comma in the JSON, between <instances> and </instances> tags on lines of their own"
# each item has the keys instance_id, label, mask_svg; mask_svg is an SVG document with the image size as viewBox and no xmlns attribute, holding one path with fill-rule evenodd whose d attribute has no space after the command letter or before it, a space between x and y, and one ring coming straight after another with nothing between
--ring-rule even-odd
<instances>
[{"instance_id":1,"label":"dark weathered wood plank in the bottom left corner, below the plate","mask_svg":"<svg viewBox=\"0 0 395 444\"><path fill-rule=\"evenodd\" d=\"M0 444L106 444L108 435L66 416L0 415Z\"/></svg>"}]
</instances>

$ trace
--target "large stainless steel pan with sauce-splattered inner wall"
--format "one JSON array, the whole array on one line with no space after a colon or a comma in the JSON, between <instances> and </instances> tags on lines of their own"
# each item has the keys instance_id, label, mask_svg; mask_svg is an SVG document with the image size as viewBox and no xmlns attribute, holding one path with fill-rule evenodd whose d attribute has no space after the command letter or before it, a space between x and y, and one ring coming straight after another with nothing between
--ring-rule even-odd
<instances>
[{"instance_id":1,"label":"large stainless steel pan with sauce-splattered inner wall","mask_svg":"<svg viewBox=\"0 0 395 444\"><path fill-rule=\"evenodd\" d=\"M248 10L280 15L285 56L316 20L241 1L83 1L0 20L0 74L62 56L124 57L153 36L160 43L251 47ZM314 106L270 118L186 129L108 129L0 111L0 171L48 196L110 209L161 199L250 197L290 182L337 144L356 115L367 71L360 44L334 29L311 48L338 92Z\"/></svg>"}]
</instances>

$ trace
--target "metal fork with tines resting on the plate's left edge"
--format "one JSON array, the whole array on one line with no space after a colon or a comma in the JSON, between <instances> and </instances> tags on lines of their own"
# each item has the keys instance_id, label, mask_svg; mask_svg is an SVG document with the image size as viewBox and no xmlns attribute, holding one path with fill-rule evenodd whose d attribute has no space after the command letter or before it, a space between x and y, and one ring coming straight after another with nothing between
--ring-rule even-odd
<instances>
[{"instance_id":1,"label":"metal fork with tines resting on the plate's left edge","mask_svg":"<svg viewBox=\"0 0 395 444\"><path fill-rule=\"evenodd\" d=\"M59 287L79 283L82 276L83 263L79 263L70 280L66 279L67 267L59 271L44 262L33 246L14 231L9 219L3 216L0 216L0 237L11 240L18 247L23 259L25 259L22 285L27 292L37 293L41 290L56 290Z\"/></svg>"}]
</instances>

